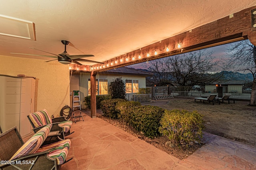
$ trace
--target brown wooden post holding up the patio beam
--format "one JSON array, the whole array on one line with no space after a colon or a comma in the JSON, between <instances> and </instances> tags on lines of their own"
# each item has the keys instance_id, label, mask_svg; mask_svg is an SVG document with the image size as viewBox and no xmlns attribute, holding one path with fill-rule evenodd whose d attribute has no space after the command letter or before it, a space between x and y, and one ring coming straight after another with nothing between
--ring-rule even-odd
<instances>
[{"instance_id":1,"label":"brown wooden post holding up the patio beam","mask_svg":"<svg viewBox=\"0 0 256 170\"><path fill-rule=\"evenodd\" d=\"M91 72L91 117L96 117L96 74L97 72Z\"/></svg>"}]
</instances>

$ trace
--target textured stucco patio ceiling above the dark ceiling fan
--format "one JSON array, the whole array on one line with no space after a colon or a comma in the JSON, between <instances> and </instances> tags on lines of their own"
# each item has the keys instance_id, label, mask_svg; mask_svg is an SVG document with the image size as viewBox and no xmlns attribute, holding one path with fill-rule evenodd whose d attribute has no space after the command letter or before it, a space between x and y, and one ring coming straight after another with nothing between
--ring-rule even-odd
<instances>
[{"instance_id":1,"label":"textured stucco patio ceiling above the dark ceiling fan","mask_svg":"<svg viewBox=\"0 0 256 170\"><path fill-rule=\"evenodd\" d=\"M51 60L10 53L60 54L68 40L70 55L103 62L251 6L255 0L0 0L0 15L36 28L36 41L0 35L0 55Z\"/></svg>"}]
</instances>

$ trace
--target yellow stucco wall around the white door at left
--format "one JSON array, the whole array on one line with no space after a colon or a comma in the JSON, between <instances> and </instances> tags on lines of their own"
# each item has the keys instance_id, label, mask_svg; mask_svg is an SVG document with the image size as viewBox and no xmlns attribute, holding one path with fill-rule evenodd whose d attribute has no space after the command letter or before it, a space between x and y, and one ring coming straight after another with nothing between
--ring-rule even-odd
<instances>
[{"instance_id":1,"label":"yellow stucco wall around the white door at left","mask_svg":"<svg viewBox=\"0 0 256 170\"><path fill-rule=\"evenodd\" d=\"M58 117L63 106L70 104L69 66L57 61L9 57L0 55L0 74L36 77L37 110L47 109L50 115Z\"/></svg>"}]
</instances>

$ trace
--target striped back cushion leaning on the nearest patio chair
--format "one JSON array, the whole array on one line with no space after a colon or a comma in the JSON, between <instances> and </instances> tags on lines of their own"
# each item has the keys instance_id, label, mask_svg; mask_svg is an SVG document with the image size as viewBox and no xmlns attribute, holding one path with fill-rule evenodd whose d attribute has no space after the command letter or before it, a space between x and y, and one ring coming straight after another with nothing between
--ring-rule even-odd
<instances>
[{"instance_id":1,"label":"striped back cushion leaning on the nearest patio chair","mask_svg":"<svg viewBox=\"0 0 256 170\"><path fill-rule=\"evenodd\" d=\"M33 154L41 147L42 143L48 136L50 130L52 128L51 125L46 125L42 129L40 129L37 133L35 133L20 149L10 158L10 160L14 160L16 158L20 158L22 156L26 156L29 154Z\"/></svg>"}]
</instances>

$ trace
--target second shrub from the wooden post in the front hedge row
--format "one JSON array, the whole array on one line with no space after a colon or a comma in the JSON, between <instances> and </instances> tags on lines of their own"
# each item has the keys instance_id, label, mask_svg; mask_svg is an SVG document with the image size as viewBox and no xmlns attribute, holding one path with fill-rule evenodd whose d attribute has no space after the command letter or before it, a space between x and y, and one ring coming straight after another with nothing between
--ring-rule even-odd
<instances>
[{"instance_id":1,"label":"second shrub from the wooden post in the front hedge row","mask_svg":"<svg viewBox=\"0 0 256 170\"><path fill-rule=\"evenodd\" d=\"M132 110L136 109L136 106L141 106L140 102L126 101L116 104L116 109L120 111L118 119L123 119L123 121L128 123L130 114Z\"/></svg>"}]
</instances>

